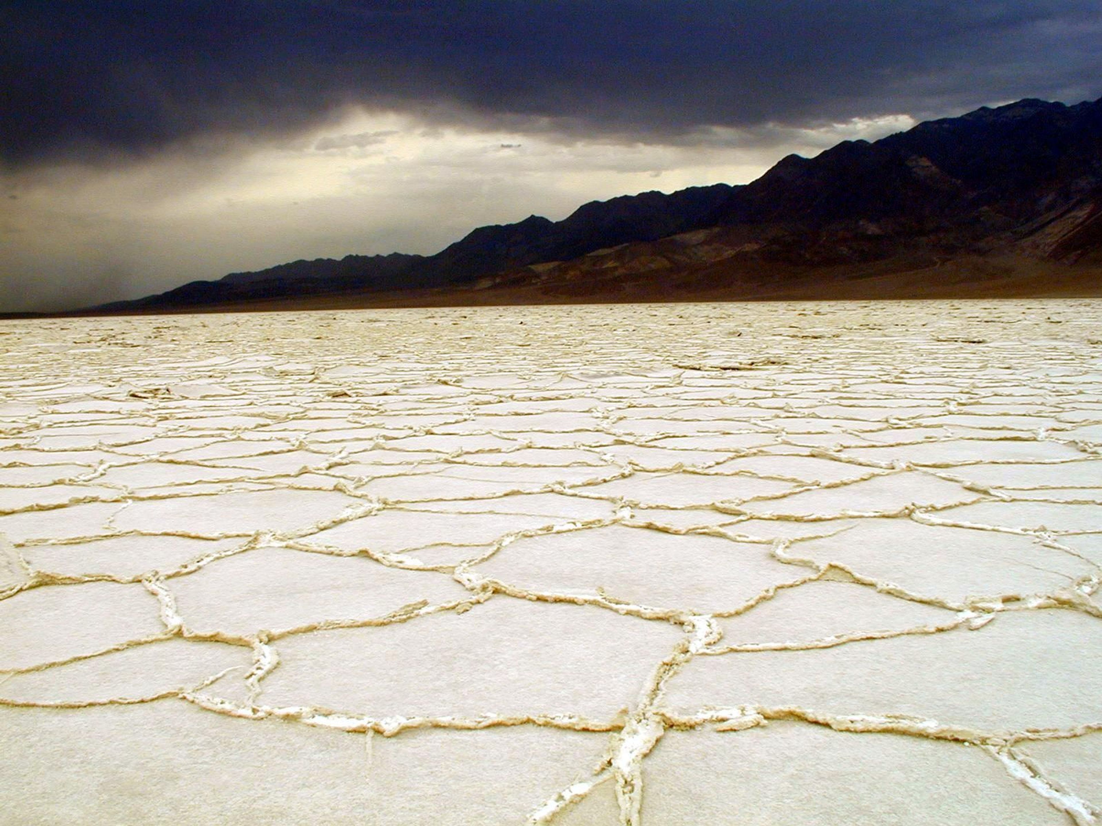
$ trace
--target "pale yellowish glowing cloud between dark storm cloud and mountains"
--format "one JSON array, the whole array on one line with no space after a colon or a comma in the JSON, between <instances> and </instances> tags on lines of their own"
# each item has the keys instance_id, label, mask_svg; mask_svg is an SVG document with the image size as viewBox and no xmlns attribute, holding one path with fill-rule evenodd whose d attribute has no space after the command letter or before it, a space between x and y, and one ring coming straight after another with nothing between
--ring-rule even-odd
<instances>
[{"instance_id":1,"label":"pale yellowish glowing cloud between dark storm cloud and mountains","mask_svg":"<svg viewBox=\"0 0 1102 826\"><path fill-rule=\"evenodd\" d=\"M532 214L559 220L588 200L651 189L747 183L790 152L813 155L912 122L716 127L692 144L618 143L350 109L222 155L166 152L109 170L63 164L9 176L18 195L0 205L0 263L30 285L22 295L9 289L12 305L57 308L74 294L137 297L301 258L431 254L478 226Z\"/></svg>"}]
</instances>

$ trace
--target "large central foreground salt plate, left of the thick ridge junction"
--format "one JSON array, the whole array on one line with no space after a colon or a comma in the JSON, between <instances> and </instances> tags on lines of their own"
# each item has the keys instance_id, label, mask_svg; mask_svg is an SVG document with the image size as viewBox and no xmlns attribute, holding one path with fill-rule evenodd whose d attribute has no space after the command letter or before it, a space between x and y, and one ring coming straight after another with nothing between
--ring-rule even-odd
<instances>
[{"instance_id":1,"label":"large central foreground salt plate, left of the thick ridge junction","mask_svg":"<svg viewBox=\"0 0 1102 826\"><path fill-rule=\"evenodd\" d=\"M379 717L611 720L635 703L651 667L646 654L680 635L669 622L590 606L495 598L465 613L281 640L264 700Z\"/></svg>"}]
</instances>

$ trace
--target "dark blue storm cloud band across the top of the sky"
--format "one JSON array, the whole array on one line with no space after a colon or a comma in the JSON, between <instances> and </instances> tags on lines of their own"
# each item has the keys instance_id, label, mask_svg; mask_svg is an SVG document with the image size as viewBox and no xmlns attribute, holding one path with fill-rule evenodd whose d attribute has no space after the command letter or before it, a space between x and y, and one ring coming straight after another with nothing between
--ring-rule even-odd
<instances>
[{"instance_id":1,"label":"dark blue storm cloud band across the top of the sky","mask_svg":"<svg viewBox=\"0 0 1102 826\"><path fill-rule=\"evenodd\" d=\"M350 105L670 141L944 115L1095 97L1100 42L1096 0L0 0L0 160L264 140Z\"/></svg>"}]
</instances>

